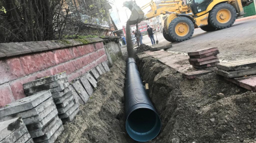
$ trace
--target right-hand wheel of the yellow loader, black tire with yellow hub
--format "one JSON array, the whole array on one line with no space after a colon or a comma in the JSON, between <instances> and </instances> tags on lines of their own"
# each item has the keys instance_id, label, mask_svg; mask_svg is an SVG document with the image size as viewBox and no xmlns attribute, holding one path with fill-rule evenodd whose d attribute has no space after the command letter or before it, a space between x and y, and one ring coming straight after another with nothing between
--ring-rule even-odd
<instances>
[{"instance_id":1,"label":"right-hand wheel of the yellow loader, black tire with yellow hub","mask_svg":"<svg viewBox=\"0 0 256 143\"><path fill-rule=\"evenodd\" d=\"M237 12L235 8L228 3L216 5L209 14L209 23L216 29L229 28L235 23Z\"/></svg>"}]
</instances>

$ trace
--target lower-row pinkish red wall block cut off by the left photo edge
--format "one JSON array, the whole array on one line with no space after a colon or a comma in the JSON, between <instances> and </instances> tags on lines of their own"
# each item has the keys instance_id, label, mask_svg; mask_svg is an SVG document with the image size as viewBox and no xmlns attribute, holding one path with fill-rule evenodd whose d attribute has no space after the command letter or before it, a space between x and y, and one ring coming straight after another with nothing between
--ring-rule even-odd
<instances>
[{"instance_id":1,"label":"lower-row pinkish red wall block cut off by the left photo edge","mask_svg":"<svg viewBox=\"0 0 256 143\"><path fill-rule=\"evenodd\" d=\"M0 86L0 108L7 104L14 102L14 96L9 84L3 84Z\"/></svg>"}]
</instances>

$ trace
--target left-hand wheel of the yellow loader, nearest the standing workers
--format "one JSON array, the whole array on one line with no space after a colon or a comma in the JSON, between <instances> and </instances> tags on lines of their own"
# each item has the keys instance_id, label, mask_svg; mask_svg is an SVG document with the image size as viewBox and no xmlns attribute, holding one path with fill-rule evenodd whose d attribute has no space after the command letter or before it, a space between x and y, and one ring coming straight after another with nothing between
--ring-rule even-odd
<instances>
[{"instance_id":1,"label":"left-hand wheel of the yellow loader, nearest the standing workers","mask_svg":"<svg viewBox=\"0 0 256 143\"><path fill-rule=\"evenodd\" d=\"M187 17L176 17L169 24L169 35L174 41L182 42L191 39L194 33L194 24Z\"/></svg>"}]
</instances>

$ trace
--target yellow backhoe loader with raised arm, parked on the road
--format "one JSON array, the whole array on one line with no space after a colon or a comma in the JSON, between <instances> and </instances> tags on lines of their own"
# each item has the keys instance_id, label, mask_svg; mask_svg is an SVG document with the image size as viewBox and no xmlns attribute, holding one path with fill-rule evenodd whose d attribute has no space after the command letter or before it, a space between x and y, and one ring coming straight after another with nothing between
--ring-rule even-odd
<instances>
[{"instance_id":1,"label":"yellow backhoe loader with raised arm, parked on the road","mask_svg":"<svg viewBox=\"0 0 256 143\"><path fill-rule=\"evenodd\" d=\"M194 28L207 32L229 28L237 17L244 15L243 7L251 3L253 0L173 0L151 1L140 8L134 1L126 1L124 6L132 11L130 24L167 15L163 36L170 42L182 42L192 37ZM144 14L143 9L148 6L151 11Z\"/></svg>"}]
</instances>

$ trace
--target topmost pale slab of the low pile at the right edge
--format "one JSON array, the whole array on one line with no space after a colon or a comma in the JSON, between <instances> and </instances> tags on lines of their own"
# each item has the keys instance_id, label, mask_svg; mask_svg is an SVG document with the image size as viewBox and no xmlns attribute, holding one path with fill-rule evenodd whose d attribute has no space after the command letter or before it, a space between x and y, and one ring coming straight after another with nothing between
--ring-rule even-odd
<instances>
[{"instance_id":1,"label":"topmost pale slab of the low pile at the right edge","mask_svg":"<svg viewBox=\"0 0 256 143\"><path fill-rule=\"evenodd\" d=\"M227 72L246 70L256 67L256 59L241 59L217 64L217 68Z\"/></svg>"}]
</instances>

